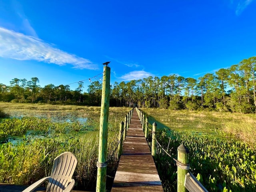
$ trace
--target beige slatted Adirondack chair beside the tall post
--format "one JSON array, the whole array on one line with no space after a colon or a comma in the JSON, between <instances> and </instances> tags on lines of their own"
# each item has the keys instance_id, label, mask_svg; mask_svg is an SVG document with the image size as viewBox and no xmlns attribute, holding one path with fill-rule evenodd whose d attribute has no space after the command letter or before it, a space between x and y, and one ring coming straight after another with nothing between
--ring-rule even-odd
<instances>
[{"instance_id":1,"label":"beige slatted Adirondack chair beside the tall post","mask_svg":"<svg viewBox=\"0 0 256 192\"><path fill-rule=\"evenodd\" d=\"M51 176L38 180L22 192L32 192L46 180L49 180L46 192L70 192L75 184L75 180L72 179L72 176L76 164L77 159L71 152L60 154L54 159Z\"/></svg>"}]
</instances>

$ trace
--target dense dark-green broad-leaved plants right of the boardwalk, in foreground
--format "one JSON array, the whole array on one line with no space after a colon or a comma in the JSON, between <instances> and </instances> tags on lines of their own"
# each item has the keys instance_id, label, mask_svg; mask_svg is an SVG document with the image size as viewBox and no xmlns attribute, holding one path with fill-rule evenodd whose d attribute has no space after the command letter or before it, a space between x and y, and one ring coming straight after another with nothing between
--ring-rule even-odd
<instances>
[{"instance_id":1,"label":"dense dark-green broad-leaved plants right of the boardwalk, in foreground","mask_svg":"<svg viewBox=\"0 0 256 192\"><path fill-rule=\"evenodd\" d=\"M158 132L164 149L177 157L181 143L190 150L190 171L212 192L256 190L256 154L240 141L167 130ZM165 191L175 191L177 174L174 161L159 147L156 165ZM228 190L225 190L228 189Z\"/></svg>"}]
</instances>

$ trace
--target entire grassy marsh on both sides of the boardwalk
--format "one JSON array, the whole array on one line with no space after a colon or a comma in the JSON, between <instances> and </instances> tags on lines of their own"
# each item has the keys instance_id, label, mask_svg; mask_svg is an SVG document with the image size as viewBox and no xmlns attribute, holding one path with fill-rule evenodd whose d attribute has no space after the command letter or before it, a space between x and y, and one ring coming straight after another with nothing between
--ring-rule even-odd
<instances>
[{"instance_id":1,"label":"entire grassy marsh on both sides of the boardwalk","mask_svg":"<svg viewBox=\"0 0 256 192\"><path fill-rule=\"evenodd\" d=\"M95 190L100 107L0 103L0 109L10 116L0 122L0 138L18 140L0 144L0 182L28 185L50 174L58 154L71 151L78 158L76 189ZM110 108L108 157L129 110ZM256 190L255 115L142 110L158 124L157 139L170 154L177 156L181 143L189 148L190 171L209 191ZM116 152L107 169L108 190L117 162ZM176 166L159 146L155 162L164 191L175 191Z\"/></svg>"}]
</instances>

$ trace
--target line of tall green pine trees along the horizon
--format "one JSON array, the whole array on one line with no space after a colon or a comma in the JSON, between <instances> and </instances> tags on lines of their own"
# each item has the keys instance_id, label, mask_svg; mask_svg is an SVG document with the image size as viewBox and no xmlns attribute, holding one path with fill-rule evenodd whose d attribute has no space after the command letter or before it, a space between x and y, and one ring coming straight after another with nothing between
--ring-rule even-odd
<instances>
[{"instance_id":1,"label":"line of tall green pine trees along the horizon","mask_svg":"<svg viewBox=\"0 0 256 192\"><path fill-rule=\"evenodd\" d=\"M173 74L115 82L111 85L110 106L256 113L255 75L256 56L198 79ZM80 81L76 90L70 90L65 85L41 87L36 77L29 81L14 78L10 86L0 83L0 101L100 106L101 82L92 82L87 92L82 92L83 84Z\"/></svg>"}]
</instances>

